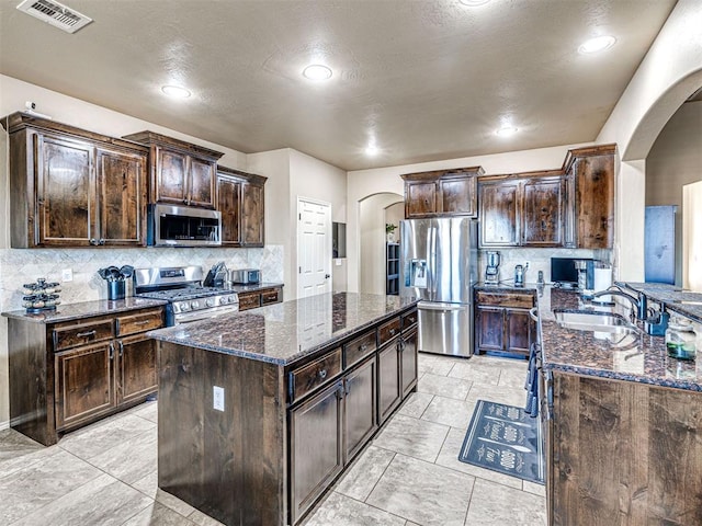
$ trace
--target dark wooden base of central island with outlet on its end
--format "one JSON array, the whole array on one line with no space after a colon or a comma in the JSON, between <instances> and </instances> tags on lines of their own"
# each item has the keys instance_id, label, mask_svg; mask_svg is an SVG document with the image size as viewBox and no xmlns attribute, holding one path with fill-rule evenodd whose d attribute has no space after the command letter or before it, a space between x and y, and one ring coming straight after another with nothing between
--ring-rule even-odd
<instances>
[{"instance_id":1,"label":"dark wooden base of central island with outlet on its end","mask_svg":"<svg viewBox=\"0 0 702 526\"><path fill-rule=\"evenodd\" d=\"M158 345L159 488L225 524L298 524L417 386L414 306L286 365Z\"/></svg>"}]
</instances>

